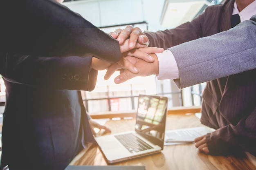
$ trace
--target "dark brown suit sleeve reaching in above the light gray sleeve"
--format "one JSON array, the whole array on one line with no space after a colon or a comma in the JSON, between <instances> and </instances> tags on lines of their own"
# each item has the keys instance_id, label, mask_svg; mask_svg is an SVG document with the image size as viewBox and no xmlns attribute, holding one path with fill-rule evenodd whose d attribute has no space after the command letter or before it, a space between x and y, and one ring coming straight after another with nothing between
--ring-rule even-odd
<instances>
[{"instance_id":1,"label":"dark brown suit sleeve reaching in above the light gray sleeve","mask_svg":"<svg viewBox=\"0 0 256 170\"><path fill-rule=\"evenodd\" d=\"M174 29L144 32L148 36L149 46L168 49L184 42L218 33L216 26L218 26L218 21L220 20L221 9L221 6L213 5L207 7L204 13L198 15L191 22L181 24ZM212 15L213 13L216 15Z\"/></svg>"}]
</instances>

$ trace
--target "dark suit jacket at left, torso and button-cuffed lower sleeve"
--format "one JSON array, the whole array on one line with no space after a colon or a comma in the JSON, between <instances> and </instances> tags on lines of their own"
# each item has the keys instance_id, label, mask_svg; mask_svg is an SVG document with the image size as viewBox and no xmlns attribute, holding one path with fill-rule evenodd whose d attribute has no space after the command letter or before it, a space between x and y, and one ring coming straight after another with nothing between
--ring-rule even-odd
<instances>
[{"instance_id":1,"label":"dark suit jacket at left, torso and button-cuffed lower sleeve","mask_svg":"<svg viewBox=\"0 0 256 170\"><path fill-rule=\"evenodd\" d=\"M63 90L94 88L91 57L5 59L1 167L64 169L84 142L94 142L80 91Z\"/></svg>"}]
</instances>

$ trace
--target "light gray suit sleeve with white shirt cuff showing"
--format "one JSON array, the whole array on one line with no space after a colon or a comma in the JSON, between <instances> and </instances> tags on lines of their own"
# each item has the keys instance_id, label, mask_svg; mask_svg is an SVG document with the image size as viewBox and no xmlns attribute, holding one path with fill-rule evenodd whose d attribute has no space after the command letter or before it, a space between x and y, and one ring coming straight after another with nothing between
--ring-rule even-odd
<instances>
[{"instance_id":1,"label":"light gray suit sleeve with white shirt cuff showing","mask_svg":"<svg viewBox=\"0 0 256 170\"><path fill-rule=\"evenodd\" d=\"M179 88L256 68L256 15L234 28L169 48Z\"/></svg>"}]
</instances>

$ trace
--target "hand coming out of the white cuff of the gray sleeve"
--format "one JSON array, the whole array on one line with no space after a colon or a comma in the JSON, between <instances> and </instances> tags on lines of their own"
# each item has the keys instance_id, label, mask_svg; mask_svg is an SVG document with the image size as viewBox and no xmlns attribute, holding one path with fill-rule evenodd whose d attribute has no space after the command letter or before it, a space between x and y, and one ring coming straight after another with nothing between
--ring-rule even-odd
<instances>
[{"instance_id":1,"label":"hand coming out of the white cuff of the gray sleeve","mask_svg":"<svg viewBox=\"0 0 256 170\"><path fill-rule=\"evenodd\" d=\"M148 47L149 48L149 47ZM148 76L148 75L157 75L159 72L159 65L158 65L158 59L155 54L150 54L150 56L155 58L155 61L152 63L145 62L144 60L138 59L136 57L127 56L126 59L129 60L132 64L136 66L136 68L139 70L138 73L132 73L129 70L125 70L122 66L119 64L112 64L108 71L106 72L106 75L104 76L104 79L109 79L109 77L115 72L120 71L120 75L115 77L114 82L116 84L120 84L122 82L127 81L128 79L131 79L136 76Z\"/></svg>"}]
</instances>

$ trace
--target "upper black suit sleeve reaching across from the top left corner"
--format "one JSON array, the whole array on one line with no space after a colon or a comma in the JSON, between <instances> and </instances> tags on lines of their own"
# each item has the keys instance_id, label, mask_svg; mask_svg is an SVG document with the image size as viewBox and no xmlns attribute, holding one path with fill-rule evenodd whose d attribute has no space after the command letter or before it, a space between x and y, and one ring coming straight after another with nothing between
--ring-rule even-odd
<instances>
[{"instance_id":1,"label":"upper black suit sleeve reaching across from the top left corner","mask_svg":"<svg viewBox=\"0 0 256 170\"><path fill-rule=\"evenodd\" d=\"M4 1L0 20L0 52L44 57L92 55L107 62L121 57L117 40L53 0Z\"/></svg>"}]
</instances>

